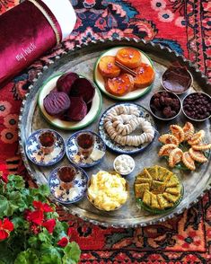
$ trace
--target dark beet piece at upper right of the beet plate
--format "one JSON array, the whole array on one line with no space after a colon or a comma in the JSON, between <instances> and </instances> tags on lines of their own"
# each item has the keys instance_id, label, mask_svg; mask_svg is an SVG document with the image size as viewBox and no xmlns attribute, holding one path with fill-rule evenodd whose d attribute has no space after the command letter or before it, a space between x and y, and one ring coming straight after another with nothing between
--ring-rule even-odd
<instances>
[{"instance_id":1,"label":"dark beet piece at upper right of the beet plate","mask_svg":"<svg viewBox=\"0 0 211 264\"><path fill-rule=\"evenodd\" d=\"M70 96L72 97L81 96L86 103L89 103L93 99L94 92L95 92L95 88L93 87L92 83L89 80L85 78L79 78L75 80L70 91Z\"/></svg>"}]
</instances>

